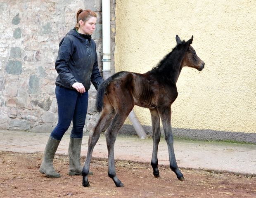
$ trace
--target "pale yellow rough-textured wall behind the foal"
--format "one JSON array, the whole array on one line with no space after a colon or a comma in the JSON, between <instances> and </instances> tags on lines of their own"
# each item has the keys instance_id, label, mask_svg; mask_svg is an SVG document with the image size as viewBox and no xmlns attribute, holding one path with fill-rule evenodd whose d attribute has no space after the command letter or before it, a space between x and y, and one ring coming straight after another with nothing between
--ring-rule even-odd
<instances>
[{"instance_id":1,"label":"pale yellow rough-textured wall behind the foal","mask_svg":"<svg viewBox=\"0 0 256 198\"><path fill-rule=\"evenodd\" d=\"M176 34L194 35L205 68L183 68L172 127L255 133L256 1L116 0L116 72L149 71L175 47ZM134 111L151 125L148 109Z\"/></svg>"}]
</instances>

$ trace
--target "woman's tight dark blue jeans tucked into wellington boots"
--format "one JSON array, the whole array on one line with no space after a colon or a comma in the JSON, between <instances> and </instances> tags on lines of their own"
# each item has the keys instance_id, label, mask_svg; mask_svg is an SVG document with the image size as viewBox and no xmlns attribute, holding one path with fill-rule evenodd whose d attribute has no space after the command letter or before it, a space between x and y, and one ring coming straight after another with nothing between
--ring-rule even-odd
<instances>
[{"instance_id":1,"label":"woman's tight dark blue jeans tucked into wellington boots","mask_svg":"<svg viewBox=\"0 0 256 198\"><path fill-rule=\"evenodd\" d=\"M69 90L56 85L55 94L59 120L50 137L61 140L66 130L68 130L71 120L73 120L70 137L83 138L83 127L88 108L88 91L81 94L76 90Z\"/></svg>"}]
</instances>

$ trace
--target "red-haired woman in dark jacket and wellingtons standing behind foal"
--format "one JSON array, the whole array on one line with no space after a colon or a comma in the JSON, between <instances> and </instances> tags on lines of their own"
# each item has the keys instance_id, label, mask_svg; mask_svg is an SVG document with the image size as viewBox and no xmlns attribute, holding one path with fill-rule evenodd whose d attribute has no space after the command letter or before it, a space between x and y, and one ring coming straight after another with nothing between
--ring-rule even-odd
<instances>
[{"instance_id":1,"label":"red-haired woman in dark jacket and wellingtons standing behind foal","mask_svg":"<svg viewBox=\"0 0 256 198\"><path fill-rule=\"evenodd\" d=\"M69 175L82 175L80 153L90 81L96 90L103 81L98 68L96 44L91 38L95 30L96 17L97 14L91 10L79 9L76 14L76 27L69 31L59 44L59 54L55 63L55 69L59 74L55 82L59 120L50 134L39 169L49 178L60 177L54 170L52 161L71 120L73 128L69 142Z\"/></svg>"}]
</instances>

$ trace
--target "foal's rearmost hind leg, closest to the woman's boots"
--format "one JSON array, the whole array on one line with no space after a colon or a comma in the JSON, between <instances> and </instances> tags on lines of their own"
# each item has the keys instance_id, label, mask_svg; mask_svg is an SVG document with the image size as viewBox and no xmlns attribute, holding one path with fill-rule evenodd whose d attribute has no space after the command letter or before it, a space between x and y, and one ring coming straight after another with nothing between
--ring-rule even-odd
<instances>
[{"instance_id":1,"label":"foal's rearmost hind leg, closest to the woman's boots","mask_svg":"<svg viewBox=\"0 0 256 198\"><path fill-rule=\"evenodd\" d=\"M89 140L88 140L88 151L87 151L85 164L83 166L83 171L82 171L83 186L85 186L85 187L90 186L89 181L88 181L88 173L89 173L89 169L90 169L90 162L92 159L93 148L100 138L100 133L102 132L104 127L107 125L107 123L114 116L113 106L110 104L107 96L104 96L104 97L106 97L106 99L104 99L104 109L100 115L99 121L97 122L95 127L93 127L93 129L90 131L90 136L89 136Z\"/></svg>"}]
</instances>

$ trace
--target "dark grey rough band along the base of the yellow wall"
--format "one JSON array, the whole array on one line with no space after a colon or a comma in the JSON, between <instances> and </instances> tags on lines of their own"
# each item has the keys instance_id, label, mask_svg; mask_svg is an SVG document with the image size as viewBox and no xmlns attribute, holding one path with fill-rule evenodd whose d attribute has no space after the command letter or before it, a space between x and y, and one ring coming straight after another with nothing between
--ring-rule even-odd
<instances>
[{"instance_id":1,"label":"dark grey rough band along the base of the yellow wall","mask_svg":"<svg viewBox=\"0 0 256 198\"><path fill-rule=\"evenodd\" d=\"M143 128L147 135L152 135L151 126L143 125ZM123 127L119 131L119 134L137 135L133 128L133 125L123 125ZM161 134L164 135L162 127ZM175 137L196 139L201 141L231 140L256 144L256 133L173 128L173 135Z\"/></svg>"}]
</instances>

